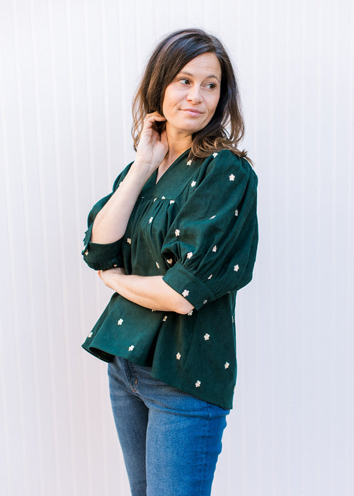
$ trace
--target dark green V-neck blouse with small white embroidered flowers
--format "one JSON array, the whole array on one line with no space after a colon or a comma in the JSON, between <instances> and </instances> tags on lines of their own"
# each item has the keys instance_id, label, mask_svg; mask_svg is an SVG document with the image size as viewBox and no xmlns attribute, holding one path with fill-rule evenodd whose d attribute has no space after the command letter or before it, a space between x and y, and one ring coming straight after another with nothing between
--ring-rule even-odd
<instances>
[{"instance_id":1,"label":"dark green V-neck blouse with small white embroidered flowers","mask_svg":"<svg viewBox=\"0 0 354 496\"><path fill-rule=\"evenodd\" d=\"M257 176L229 150L203 162L188 160L188 152L157 184L157 171L152 174L122 239L90 242L93 220L111 195L96 203L83 254L92 269L122 266L127 274L164 276L195 308L188 315L154 311L115 293L83 347L105 361L117 355L152 366L159 381L229 409L236 383L236 291L251 281L256 259Z\"/></svg>"}]
</instances>

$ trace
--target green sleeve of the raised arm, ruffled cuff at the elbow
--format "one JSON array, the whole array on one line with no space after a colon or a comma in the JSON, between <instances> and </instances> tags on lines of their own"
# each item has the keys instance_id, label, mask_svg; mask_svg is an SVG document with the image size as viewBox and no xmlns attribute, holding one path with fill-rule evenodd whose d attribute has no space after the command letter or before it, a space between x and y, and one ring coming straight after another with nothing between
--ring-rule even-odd
<instances>
[{"instance_id":1,"label":"green sleeve of the raised arm, ruffled cuff at the elbow","mask_svg":"<svg viewBox=\"0 0 354 496\"><path fill-rule=\"evenodd\" d=\"M120 182L127 175L127 172L130 169L130 165L131 164L129 164L119 174L118 178L115 179L115 182L113 184L113 193L118 188ZM93 205L93 208L91 209L87 220L88 229L85 232L84 249L82 250L81 253L84 255L84 261L86 261L86 264L88 264L88 266L91 267L91 269L94 269L96 271L98 270L106 271L108 269L112 269L113 267L122 266L122 250L121 250L122 239L118 239L113 243L105 243L105 244L91 242L93 221L95 220L98 212L108 202L108 200L113 195L113 193L110 193L104 198L101 198L100 201L98 201L95 205Z\"/></svg>"}]
</instances>

